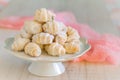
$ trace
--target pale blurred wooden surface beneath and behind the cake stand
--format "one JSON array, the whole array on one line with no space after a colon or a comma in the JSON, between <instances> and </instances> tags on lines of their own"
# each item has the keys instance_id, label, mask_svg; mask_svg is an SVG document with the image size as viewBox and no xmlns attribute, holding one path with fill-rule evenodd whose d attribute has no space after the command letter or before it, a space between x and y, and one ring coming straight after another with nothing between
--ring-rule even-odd
<instances>
[{"instance_id":1,"label":"pale blurred wooden surface beneath and behind the cake stand","mask_svg":"<svg viewBox=\"0 0 120 80\"><path fill-rule=\"evenodd\" d=\"M104 0L12 0L0 17L33 15L35 9L46 7L56 11L71 11L80 23L90 25L100 33L120 35L112 24ZM65 62L66 71L56 77L38 77L28 72L30 62L14 57L3 50L7 37L18 31L0 29L0 80L120 80L120 66Z\"/></svg>"}]
</instances>

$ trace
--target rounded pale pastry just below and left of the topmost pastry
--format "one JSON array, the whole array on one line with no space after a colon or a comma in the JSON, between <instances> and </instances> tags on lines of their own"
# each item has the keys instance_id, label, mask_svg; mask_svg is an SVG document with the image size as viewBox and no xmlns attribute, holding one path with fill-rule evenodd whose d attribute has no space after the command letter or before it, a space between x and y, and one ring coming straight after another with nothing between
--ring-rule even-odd
<instances>
[{"instance_id":1,"label":"rounded pale pastry just below and left of the topmost pastry","mask_svg":"<svg viewBox=\"0 0 120 80\"><path fill-rule=\"evenodd\" d=\"M41 24L36 21L26 21L24 23L24 29L29 34L37 34L42 32Z\"/></svg>"}]
</instances>

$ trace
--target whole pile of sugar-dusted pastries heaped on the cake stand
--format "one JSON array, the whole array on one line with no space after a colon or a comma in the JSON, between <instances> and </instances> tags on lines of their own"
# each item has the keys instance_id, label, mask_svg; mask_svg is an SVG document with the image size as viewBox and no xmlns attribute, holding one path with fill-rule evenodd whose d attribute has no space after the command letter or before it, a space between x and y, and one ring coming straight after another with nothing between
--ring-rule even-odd
<instances>
[{"instance_id":1,"label":"whole pile of sugar-dusted pastries heaped on the cake stand","mask_svg":"<svg viewBox=\"0 0 120 80\"><path fill-rule=\"evenodd\" d=\"M51 56L79 52L78 32L54 18L55 14L45 8L36 10L34 20L26 21L15 36L12 50L24 51L33 57L40 56L43 50Z\"/></svg>"}]
</instances>

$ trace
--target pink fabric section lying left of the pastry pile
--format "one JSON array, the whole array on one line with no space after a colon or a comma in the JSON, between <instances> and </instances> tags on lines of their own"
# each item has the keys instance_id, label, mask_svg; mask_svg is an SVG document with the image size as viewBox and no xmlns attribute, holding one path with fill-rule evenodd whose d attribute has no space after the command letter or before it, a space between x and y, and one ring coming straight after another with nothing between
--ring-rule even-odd
<instances>
[{"instance_id":1,"label":"pink fabric section lying left of the pastry pile","mask_svg":"<svg viewBox=\"0 0 120 80\"><path fill-rule=\"evenodd\" d=\"M33 17L11 16L0 20L0 27L20 30L25 20L32 20Z\"/></svg>"}]
</instances>

